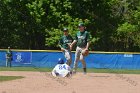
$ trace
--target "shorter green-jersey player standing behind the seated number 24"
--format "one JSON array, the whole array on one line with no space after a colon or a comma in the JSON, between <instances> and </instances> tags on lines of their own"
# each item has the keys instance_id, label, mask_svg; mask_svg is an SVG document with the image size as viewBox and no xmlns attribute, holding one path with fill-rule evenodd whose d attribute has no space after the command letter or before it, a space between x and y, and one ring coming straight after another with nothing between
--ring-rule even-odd
<instances>
[{"instance_id":1,"label":"shorter green-jersey player standing behind the seated number 24","mask_svg":"<svg viewBox=\"0 0 140 93\"><path fill-rule=\"evenodd\" d=\"M59 41L59 46L63 51L63 54L67 60L66 63L70 66L72 63L70 44L72 43L73 38L71 35L69 35L67 28L63 29L63 33L64 35L61 37Z\"/></svg>"}]
</instances>

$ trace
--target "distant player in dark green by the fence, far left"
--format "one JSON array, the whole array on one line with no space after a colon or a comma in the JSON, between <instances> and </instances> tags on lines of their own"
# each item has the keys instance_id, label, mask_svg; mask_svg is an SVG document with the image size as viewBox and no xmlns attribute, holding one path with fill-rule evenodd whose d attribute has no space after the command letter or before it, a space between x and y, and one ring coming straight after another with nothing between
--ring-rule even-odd
<instances>
[{"instance_id":1,"label":"distant player in dark green by the fence, far left","mask_svg":"<svg viewBox=\"0 0 140 93\"><path fill-rule=\"evenodd\" d=\"M11 67L11 61L12 61L12 51L10 47L8 47L8 50L6 51L6 67Z\"/></svg>"}]
</instances>

